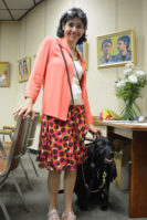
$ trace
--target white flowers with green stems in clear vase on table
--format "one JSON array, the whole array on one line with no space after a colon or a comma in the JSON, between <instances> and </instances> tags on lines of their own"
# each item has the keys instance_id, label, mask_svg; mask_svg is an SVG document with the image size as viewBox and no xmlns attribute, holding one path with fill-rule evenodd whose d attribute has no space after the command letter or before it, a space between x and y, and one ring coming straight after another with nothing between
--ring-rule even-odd
<instances>
[{"instance_id":1,"label":"white flowers with green stems in clear vase on table","mask_svg":"<svg viewBox=\"0 0 147 220\"><path fill-rule=\"evenodd\" d=\"M115 83L116 96L125 102L125 107L120 113L122 119L134 121L140 114L140 108L136 99L141 97L141 88L146 85L147 74L135 70L133 63L127 63L124 71L124 78L119 78Z\"/></svg>"}]
</instances>

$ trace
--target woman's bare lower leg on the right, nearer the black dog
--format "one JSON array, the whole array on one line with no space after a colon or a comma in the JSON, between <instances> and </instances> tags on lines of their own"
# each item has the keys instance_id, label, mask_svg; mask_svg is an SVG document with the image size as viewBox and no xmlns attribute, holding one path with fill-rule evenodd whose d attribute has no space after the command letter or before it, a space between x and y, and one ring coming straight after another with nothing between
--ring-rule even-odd
<instances>
[{"instance_id":1,"label":"woman's bare lower leg on the right, nearer the black dog","mask_svg":"<svg viewBox=\"0 0 147 220\"><path fill-rule=\"evenodd\" d=\"M73 190L76 180L76 170L66 169L64 174L64 212L72 212Z\"/></svg>"}]
</instances>

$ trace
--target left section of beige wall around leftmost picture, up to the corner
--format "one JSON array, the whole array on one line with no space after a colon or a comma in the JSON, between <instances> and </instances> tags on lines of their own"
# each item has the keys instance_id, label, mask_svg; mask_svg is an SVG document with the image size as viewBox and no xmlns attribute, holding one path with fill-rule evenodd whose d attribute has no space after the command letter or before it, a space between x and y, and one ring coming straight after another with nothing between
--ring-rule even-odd
<instances>
[{"instance_id":1,"label":"left section of beige wall around leftmost picture, up to the corner","mask_svg":"<svg viewBox=\"0 0 147 220\"><path fill-rule=\"evenodd\" d=\"M17 105L18 84L18 22L0 23L0 62L10 63L10 86L0 87L0 128L13 125L12 113Z\"/></svg>"}]
</instances>

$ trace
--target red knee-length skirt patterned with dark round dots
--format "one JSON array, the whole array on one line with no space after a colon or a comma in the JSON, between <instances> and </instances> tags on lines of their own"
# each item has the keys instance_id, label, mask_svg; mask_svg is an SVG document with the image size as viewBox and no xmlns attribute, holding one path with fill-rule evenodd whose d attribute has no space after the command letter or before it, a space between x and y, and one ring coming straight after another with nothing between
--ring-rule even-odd
<instances>
[{"instance_id":1,"label":"red knee-length skirt patterned with dark round dots","mask_svg":"<svg viewBox=\"0 0 147 220\"><path fill-rule=\"evenodd\" d=\"M70 106L67 119L42 116L36 161L49 170L75 170L86 156L84 105Z\"/></svg>"}]
</instances>

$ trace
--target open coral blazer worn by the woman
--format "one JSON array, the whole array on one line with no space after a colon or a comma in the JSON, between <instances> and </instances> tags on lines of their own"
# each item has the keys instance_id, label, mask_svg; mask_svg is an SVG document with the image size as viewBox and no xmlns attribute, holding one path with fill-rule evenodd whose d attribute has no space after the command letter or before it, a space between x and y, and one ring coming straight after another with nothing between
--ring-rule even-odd
<instances>
[{"instance_id":1,"label":"open coral blazer worn by the woman","mask_svg":"<svg viewBox=\"0 0 147 220\"><path fill-rule=\"evenodd\" d=\"M25 97L32 97L33 102L35 102L43 84L42 114L66 121L71 101L71 91L67 82L65 63L59 43L62 46L66 59L70 81L72 84L74 65L66 40L64 38L46 38L38 51L33 71L27 86ZM78 55L84 73L81 78L81 88L86 112L86 123L88 125L93 122L93 117L90 111L86 92L85 63L81 54Z\"/></svg>"}]
</instances>

